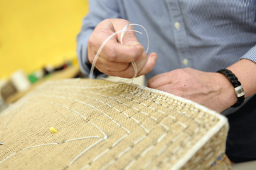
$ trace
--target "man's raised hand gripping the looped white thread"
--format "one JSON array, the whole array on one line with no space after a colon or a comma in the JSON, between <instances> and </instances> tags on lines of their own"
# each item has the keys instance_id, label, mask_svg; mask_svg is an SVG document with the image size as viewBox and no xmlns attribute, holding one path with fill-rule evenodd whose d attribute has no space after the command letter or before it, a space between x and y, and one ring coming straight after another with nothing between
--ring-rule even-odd
<instances>
[{"instance_id":1,"label":"man's raised hand gripping the looped white thread","mask_svg":"<svg viewBox=\"0 0 256 170\"><path fill-rule=\"evenodd\" d=\"M93 62L97 50L112 33L122 30L128 24L129 21L123 19L107 19L99 23L88 41L87 56L89 61ZM128 30L133 30L133 27L129 26ZM127 31L125 33L122 45L120 44L120 35L121 33L118 33L107 42L95 67L100 72L110 76L131 78L134 77L134 68L130 63L135 62L138 77L150 72L156 63L156 53L152 52L146 56L144 47L138 42L134 32Z\"/></svg>"}]
</instances>

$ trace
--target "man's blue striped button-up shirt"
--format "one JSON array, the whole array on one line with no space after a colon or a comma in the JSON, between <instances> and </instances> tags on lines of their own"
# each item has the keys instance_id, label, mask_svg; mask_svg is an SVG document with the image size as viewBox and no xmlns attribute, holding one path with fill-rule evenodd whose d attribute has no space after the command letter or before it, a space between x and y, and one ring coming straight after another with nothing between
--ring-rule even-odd
<instances>
[{"instance_id":1,"label":"man's blue striped button-up shirt","mask_svg":"<svg viewBox=\"0 0 256 170\"><path fill-rule=\"evenodd\" d=\"M84 74L90 72L87 41L106 18L123 18L148 31L149 53L156 52L158 60L147 80L178 68L216 72L240 59L256 62L256 0L92 0L78 35ZM137 38L146 48L146 34Z\"/></svg>"}]
</instances>

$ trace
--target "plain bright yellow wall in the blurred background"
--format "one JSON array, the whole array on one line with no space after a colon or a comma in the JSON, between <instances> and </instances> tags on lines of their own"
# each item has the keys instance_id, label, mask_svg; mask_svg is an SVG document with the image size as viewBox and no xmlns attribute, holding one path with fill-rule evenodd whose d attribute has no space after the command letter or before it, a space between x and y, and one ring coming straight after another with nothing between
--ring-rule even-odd
<instances>
[{"instance_id":1,"label":"plain bright yellow wall in the blurred background","mask_svg":"<svg viewBox=\"0 0 256 170\"><path fill-rule=\"evenodd\" d=\"M87 0L0 0L0 79L76 58Z\"/></svg>"}]
</instances>

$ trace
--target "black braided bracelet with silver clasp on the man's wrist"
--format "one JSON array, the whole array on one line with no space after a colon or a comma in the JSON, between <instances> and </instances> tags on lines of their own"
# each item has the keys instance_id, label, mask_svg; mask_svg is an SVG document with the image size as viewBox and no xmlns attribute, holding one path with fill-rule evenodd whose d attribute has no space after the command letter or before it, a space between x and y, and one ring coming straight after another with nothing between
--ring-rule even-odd
<instances>
[{"instance_id":1,"label":"black braided bracelet with silver clasp on the man's wrist","mask_svg":"<svg viewBox=\"0 0 256 170\"><path fill-rule=\"evenodd\" d=\"M242 85L240 81L238 81L238 78L235 77L235 74L228 69L220 69L218 72L224 74L225 77L228 77L235 88L235 94L238 96L238 102L231 107L237 108L238 106L241 106L245 101L245 91L242 89Z\"/></svg>"}]
</instances>

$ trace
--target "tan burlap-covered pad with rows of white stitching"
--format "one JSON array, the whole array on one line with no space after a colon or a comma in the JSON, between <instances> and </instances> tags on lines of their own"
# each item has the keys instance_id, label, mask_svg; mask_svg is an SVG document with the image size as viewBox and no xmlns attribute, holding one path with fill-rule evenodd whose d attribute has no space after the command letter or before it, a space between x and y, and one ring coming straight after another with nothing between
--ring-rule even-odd
<instances>
[{"instance_id":1,"label":"tan burlap-covered pad with rows of white stitching","mask_svg":"<svg viewBox=\"0 0 256 170\"><path fill-rule=\"evenodd\" d=\"M211 169L221 167L228 124L161 91L68 79L7 108L0 131L0 169Z\"/></svg>"}]
</instances>

